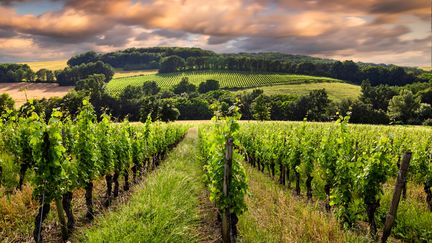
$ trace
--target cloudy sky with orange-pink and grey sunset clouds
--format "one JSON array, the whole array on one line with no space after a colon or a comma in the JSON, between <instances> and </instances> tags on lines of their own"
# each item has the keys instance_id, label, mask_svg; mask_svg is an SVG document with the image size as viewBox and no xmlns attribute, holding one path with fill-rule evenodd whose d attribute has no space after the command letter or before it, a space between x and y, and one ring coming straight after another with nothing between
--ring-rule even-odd
<instances>
[{"instance_id":1,"label":"cloudy sky with orange-pink and grey sunset clouds","mask_svg":"<svg viewBox=\"0 0 432 243\"><path fill-rule=\"evenodd\" d=\"M0 62L184 46L432 66L430 0L0 0Z\"/></svg>"}]
</instances>

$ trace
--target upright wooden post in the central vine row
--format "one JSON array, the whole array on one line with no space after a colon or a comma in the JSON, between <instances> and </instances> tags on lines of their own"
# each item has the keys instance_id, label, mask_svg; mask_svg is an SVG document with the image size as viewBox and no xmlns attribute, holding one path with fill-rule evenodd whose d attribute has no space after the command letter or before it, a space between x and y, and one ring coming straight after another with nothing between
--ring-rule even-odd
<instances>
[{"instance_id":1,"label":"upright wooden post in the central vine row","mask_svg":"<svg viewBox=\"0 0 432 243\"><path fill-rule=\"evenodd\" d=\"M233 139L228 138L225 145L225 166L223 193L225 198L229 197L229 191L232 180L232 157L233 157ZM235 215L230 212L231 205L228 205L222 212L222 239L225 243L235 242L235 225L233 219Z\"/></svg>"}]
</instances>

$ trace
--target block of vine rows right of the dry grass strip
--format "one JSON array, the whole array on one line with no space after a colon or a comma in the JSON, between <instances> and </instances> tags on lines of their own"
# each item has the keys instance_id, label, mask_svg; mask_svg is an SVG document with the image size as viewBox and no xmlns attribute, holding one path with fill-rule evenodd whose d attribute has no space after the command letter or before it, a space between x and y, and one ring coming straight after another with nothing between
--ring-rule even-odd
<instances>
[{"instance_id":1,"label":"block of vine rows right of the dry grass strip","mask_svg":"<svg viewBox=\"0 0 432 243\"><path fill-rule=\"evenodd\" d=\"M407 240L431 240L431 130L353 126L348 119L341 117L336 124L242 124L238 147L253 167L293 188L296 195L305 191L309 201L323 201L344 228L368 222L373 238L390 207L384 188L392 190L389 185L398 175L402 155L410 151L408 180L402 191L406 204L402 203L393 234ZM411 186L424 189L423 199L407 198Z\"/></svg>"}]
</instances>

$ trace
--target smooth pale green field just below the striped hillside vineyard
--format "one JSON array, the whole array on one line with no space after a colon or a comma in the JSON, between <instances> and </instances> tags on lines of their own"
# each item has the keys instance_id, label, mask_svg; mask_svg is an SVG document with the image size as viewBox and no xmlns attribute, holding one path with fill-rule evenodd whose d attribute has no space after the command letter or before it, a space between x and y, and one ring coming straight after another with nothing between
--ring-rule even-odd
<instances>
[{"instance_id":1,"label":"smooth pale green field just below the striped hillside vineyard","mask_svg":"<svg viewBox=\"0 0 432 243\"><path fill-rule=\"evenodd\" d=\"M340 101L345 98L357 98L361 94L358 85L348 83L311 83L311 84L282 84L260 87L266 95L307 95L316 89L325 89L331 100ZM237 93L252 91L251 89L239 90Z\"/></svg>"}]
</instances>

